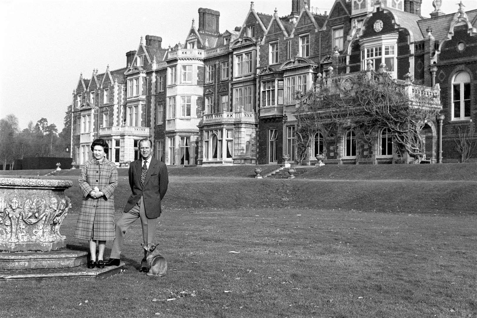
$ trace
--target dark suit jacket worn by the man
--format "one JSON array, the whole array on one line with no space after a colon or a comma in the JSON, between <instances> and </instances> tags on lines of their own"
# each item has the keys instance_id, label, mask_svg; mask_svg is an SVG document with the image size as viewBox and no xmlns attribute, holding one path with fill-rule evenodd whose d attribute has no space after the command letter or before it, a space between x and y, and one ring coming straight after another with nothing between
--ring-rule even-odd
<instances>
[{"instance_id":1,"label":"dark suit jacket worn by the man","mask_svg":"<svg viewBox=\"0 0 477 318\"><path fill-rule=\"evenodd\" d=\"M129 185L131 196L124 206L128 212L141 199L144 199L144 209L147 218L154 219L161 215L161 200L166 195L169 176L167 167L162 161L151 157L144 185L141 184L142 159L135 160L129 165Z\"/></svg>"}]
</instances>

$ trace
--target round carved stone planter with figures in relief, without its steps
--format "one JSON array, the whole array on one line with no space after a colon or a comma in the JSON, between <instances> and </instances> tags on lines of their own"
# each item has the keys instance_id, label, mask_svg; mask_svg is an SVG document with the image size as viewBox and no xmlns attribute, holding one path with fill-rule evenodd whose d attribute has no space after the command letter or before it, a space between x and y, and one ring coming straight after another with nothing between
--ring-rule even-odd
<instances>
[{"instance_id":1,"label":"round carved stone planter with figures in relief, without its steps","mask_svg":"<svg viewBox=\"0 0 477 318\"><path fill-rule=\"evenodd\" d=\"M65 247L60 226L71 207L66 180L0 178L0 251Z\"/></svg>"}]
</instances>

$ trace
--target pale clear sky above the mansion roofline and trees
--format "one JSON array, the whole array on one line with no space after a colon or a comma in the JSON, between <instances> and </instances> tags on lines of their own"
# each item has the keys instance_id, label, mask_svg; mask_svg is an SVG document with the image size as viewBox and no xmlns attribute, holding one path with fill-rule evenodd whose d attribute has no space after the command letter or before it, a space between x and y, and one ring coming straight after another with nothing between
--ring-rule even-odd
<instances>
[{"instance_id":1,"label":"pale clear sky above the mansion roofline and trees","mask_svg":"<svg viewBox=\"0 0 477 318\"><path fill-rule=\"evenodd\" d=\"M459 0L443 0L453 13ZM465 10L476 0L462 0ZM311 0L314 11L330 12L334 0ZM162 47L184 43L198 8L220 11L220 32L242 26L249 0L0 0L0 118L14 114L20 129L42 117L63 128L67 106L80 74L90 79L126 66L125 53L137 50L141 36L162 37ZM279 16L291 0L254 0L257 12ZM422 15L434 10L423 0Z\"/></svg>"}]
</instances>

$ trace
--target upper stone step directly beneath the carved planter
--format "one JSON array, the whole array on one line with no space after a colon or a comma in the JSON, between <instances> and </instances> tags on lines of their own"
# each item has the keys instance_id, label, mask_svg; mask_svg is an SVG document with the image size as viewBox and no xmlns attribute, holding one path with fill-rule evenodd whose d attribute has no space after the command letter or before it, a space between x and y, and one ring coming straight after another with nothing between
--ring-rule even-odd
<instances>
[{"instance_id":1,"label":"upper stone step directly beneath the carved planter","mask_svg":"<svg viewBox=\"0 0 477 318\"><path fill-rule=\"evenodd\" d=\"M75 250L0 253L0 270L78 267L87 263L87 257L87 252Z\"/></svg>"}]
</instances>

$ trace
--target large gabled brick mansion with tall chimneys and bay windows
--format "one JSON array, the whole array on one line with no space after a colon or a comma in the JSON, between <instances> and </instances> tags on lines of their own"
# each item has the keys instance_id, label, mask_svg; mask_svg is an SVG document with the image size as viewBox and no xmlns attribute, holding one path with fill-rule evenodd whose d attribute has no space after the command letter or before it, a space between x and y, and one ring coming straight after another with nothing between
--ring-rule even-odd
<instances>
[{"instance_id":1,"label":"large gabled brick mansion with tall chimneys and bay windows","mask_svg":"<svg viewBox=\"0 0 477 318\"><path fill-rule=\"evenodd\" d=\"M468 128L470 143L477 138L477 10L456 5L444 14L434 0L425 19L422 1L431 0L335 0L321 15L309 1L290 0L285 17L258 13L252 1L243 25L222 32L220 13L200 8L185 43L163 48L161 37L146 35L126 53L124 68L80 76L73 160L88 160L99 137L118 165L138 158L142 138L168 165L278 164L282 154L294 161L295 93L324 78L346 81L371 65L440 110L422 132L426 159L460 161L456 139L464 130L456 128ZM302 163L316 163L316 153L330 164L399 159L386 130L366 149L353 144L353 132L336 138L331 147L316 132Z\"/></svg>"}]
</instances>

